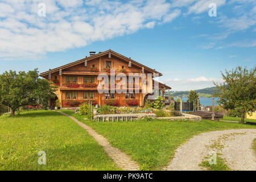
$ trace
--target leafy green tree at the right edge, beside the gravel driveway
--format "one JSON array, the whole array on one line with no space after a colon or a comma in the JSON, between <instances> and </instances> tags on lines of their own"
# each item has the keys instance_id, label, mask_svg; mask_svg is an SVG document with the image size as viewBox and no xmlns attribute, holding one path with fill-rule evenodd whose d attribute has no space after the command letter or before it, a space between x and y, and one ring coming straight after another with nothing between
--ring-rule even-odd
<instances>
[{"instance_id":1,"label":"leafy green tree at the right edge, beside the gravel driveway","mask_svg":"<svg viewBox=\"0 0 256 182\"><path fill-rule=\"evenodd\" d=\"M234 110L241 114L241 122L244 122L245 113L255 111L256 108L256 67L246 69L237 67L232 71L221 73L223 84L214 84L218 88L215 96L220 97L220 104L224 109Z\"/></svg>"}]
</instances>

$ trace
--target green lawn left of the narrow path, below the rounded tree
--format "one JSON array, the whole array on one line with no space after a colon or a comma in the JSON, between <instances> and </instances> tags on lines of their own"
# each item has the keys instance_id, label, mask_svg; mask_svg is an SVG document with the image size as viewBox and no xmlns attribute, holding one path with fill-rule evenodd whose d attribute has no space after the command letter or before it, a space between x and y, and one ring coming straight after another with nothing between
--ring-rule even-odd
<instances>
[{"instance_id":1,"label":"green lawn left of the narrow path, below the rounded tree","mask_svg":"<svg viewBox=\"0 0 256 182\"><path fill-rule=\"evenodd\" d=\"M38 164L45 151L46 165ZM55 111L0 117L2 170L118 170L112 159L77 123Z\"/></svg>"}]
</instances>

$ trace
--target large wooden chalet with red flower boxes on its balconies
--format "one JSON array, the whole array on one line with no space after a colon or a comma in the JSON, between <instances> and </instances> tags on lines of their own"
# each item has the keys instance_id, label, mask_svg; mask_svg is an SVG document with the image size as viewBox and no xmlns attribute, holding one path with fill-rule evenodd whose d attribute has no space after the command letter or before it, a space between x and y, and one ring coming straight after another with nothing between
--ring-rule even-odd
<instances>
[{"instance_id":1,"label":"large wooden chalet with red flower boxes on its balconies","mask_svg":"<svg viewBox=\"0 0 256 182\"><path fill-rule=\"evenodd\" d=\"M97 77L101 73L110 75L110 69L114 69L115 75L122 72L126 75L129 75L129 73L152 73L153 76L156 74L162 76L162 73L110 49L97 54L90 52L90 56L86 56L84 59L40 73L41 77L58 86L56 98L50 101L50 106L54 106L56 100L60 101L60 107L75 107L89 101L99 106L104 104L143 106L144 101L150 94L149 92L154 89L154 79L147 80L151 83L152 88L150 89L151 91L145 88L147 90L146 93L142 93L141 78L139 78L139 86L137 86L139 92L137 93L99 93L97 86L101 81L98 81ZM164 90L167 89L171 88L159 82L159 93L162 92L163 94Z\"/></svg>"}]
</instances>

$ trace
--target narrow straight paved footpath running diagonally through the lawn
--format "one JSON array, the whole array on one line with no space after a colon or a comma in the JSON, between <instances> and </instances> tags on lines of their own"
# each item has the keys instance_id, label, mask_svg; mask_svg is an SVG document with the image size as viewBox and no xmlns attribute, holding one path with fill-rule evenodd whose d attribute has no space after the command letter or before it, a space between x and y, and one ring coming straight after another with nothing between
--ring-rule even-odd
<instances>
[{"instance_id":1,"label":"narrow straight paved footpath running diagonally through the lawn","mask_svg":"<svg viewBox=\"0 0 256 182\"><path fill-rule=\"evenodd\" d=\"M73 119L73 121L75 121L83 129L85 129L89 133L89 135L91 135L98 142L98 144L100 144L104 148L106 154L108 154L110 158L113 159L114 163L117 164L119 168L122 168L125 171L138 171L140 169L137 162L134 162L133 160L131 160L130 156L127 156L124 152L120 151L118 148L113 147L109 143L108 139L104 138L102 135L97 134L96 131L93 130L91 127L78 121L76 118L72 117L71 115L65 114L61 111L58 111L58 112Z\"/></svg>"}]
</instances>

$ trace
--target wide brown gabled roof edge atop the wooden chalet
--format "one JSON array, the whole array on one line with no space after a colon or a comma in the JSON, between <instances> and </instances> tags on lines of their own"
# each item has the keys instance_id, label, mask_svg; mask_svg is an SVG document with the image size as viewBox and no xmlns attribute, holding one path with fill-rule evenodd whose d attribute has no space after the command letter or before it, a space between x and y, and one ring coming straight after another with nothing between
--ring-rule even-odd
<instances>
[{"instance_id":1,"label":"wide brown gabled roof edge atop the wooden chalet","mask_svg":"<svg viewBox=\"0 0 256 182\"><path fill-rule=\"evenodd\" d=\"M98 57L101 57L101 56L104 56L104 55L108 55L109 53L117 56L118 58L124 60L124 61L127 61L129 63L129 61L131 61L131 63L133 63L134 65L137 65L138 67L144 67L144 70L147 70L149 72L152 72L152 73L156 73L158 74L159 76L162 76L162 73L160 72L157 72L155 71L154 69L151 69L149 67L146 67L145 65L141 64L141 63L138 63L137 61L134 61L126 56L123 56L115 51L112 51L111 49L109 49L108 51L104 51L104 52L100 52L100 53L97 53L96 55L92 55L92 56L89 56L89 57L85 57L84 59L80 59L80 60L77 60L77 61L74 61L72 63L69 63L69 64L65 64L61 67L57 67L57 68L54 68L54 69L51 69L49 71L46 71L46 72L43 72L43 73L40 73L40 76L46 76L47 74L49 73L54 73L54 72L57 72L59 71L60 69L65 69L65 68L68 68L68 67L71 67L71 66L74 66L74 65L77 65L77 64L80 64L82 63L83 61L89 61L89 60L93 60L95 58L98 58Z\"/></svg>"}]
</instances>

